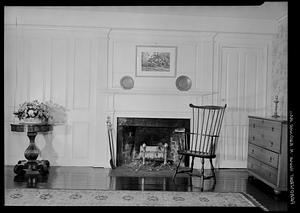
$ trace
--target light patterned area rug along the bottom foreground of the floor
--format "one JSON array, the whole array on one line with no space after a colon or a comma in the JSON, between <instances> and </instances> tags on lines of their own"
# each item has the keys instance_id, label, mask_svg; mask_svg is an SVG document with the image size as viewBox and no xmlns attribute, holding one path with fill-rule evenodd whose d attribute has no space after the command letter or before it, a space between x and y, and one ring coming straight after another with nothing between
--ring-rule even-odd
<instances>
[{"instance_id":1,"label":"light patterned area rug along the bottom foreground of the floor","mask_svg":"<svg viewBox=\"0 0 300 213\"><path fill-rule=\"evenodd\" d=\"M245 193L6 189L6 206L197 206L261 207Z\"/></svg>"}]
</instances>

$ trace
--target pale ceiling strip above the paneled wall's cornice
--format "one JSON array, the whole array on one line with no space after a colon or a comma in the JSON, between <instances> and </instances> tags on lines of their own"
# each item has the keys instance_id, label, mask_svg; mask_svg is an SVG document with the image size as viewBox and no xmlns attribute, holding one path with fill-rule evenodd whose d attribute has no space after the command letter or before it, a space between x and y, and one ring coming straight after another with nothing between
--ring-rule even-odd
<instances>
[{"instance_id":1,"label":"pale ceiling strip above the paneled wall's cornice","mask_svg":"<svg viewBox=\"0 0 300 213\"><path fill-rule=\"evenodd\" d=\"M260 6L59 6L47 9L118 12L156 15L183 15L250 19L279 19L287 15L287 2L265 2ZM36 7L35 7L36 8Z\"/></svg>"}]
</instances>

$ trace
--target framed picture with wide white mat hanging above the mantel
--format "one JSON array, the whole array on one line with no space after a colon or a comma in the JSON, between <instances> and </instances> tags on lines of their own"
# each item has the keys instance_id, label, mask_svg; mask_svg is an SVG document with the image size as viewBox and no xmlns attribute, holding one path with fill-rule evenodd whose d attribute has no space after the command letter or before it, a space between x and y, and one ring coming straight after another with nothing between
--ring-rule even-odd
<instances>
[{"instance_id":1,"label":"framed picture with wide white mat hanging above the mantel","mask_svg":"<svg viewBox=\"0 0 300 213\"><path fill-rule=\"evenodd\" d=\"M136 46L136 76L175 77L177 47Z\"/></svg>"}]
</instances>

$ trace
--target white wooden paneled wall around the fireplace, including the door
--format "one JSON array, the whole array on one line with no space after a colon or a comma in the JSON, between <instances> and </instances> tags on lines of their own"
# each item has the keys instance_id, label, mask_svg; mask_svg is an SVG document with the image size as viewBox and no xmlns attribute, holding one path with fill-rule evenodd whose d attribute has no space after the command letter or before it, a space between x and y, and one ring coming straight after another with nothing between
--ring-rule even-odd
<instances>
[{"instance_id":1,"label":"white wooden paneled wall around the fireplace, including the door","mask_svg":"<svg viewBox=\"0 0 300 213\"><path fill-rule=\"evenodd\" d=\"M271 34L7 25L5 164L22 159L28 146L25 134L10 131L13 110L39 99L68 109L66 125L36 138L52 165L109 167L107 116L116 128L121 116L189 118L189 103L227 103L216 163L246 167L247 116L269 110L271 40ZM176 46L176 77L135 76L137 45ZM125 75L134 79L132 90L120 86ZM180 75L191 78L191 90L176 88Z\"/></svg>"}]
</instances>

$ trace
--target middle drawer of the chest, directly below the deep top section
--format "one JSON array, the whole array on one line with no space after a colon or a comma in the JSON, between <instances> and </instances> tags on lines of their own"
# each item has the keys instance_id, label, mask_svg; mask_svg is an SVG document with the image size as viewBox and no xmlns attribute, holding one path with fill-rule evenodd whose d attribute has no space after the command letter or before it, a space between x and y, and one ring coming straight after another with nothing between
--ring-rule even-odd
<instances>
[{"instance_id":1,"label":"middle drawer of the chest, directly below the deep top section","mask_svg":"<svg viewBox=\"0 0 300 213\"><path fill-rule=\"evenodd\" d=\"M249 143L248 146L248 155L251 157L268 164L269 166L273 166L278 168L278 159L279 155L275 152L269 151L259 146L255 146Z\"/></svg>"}]
</instances>

